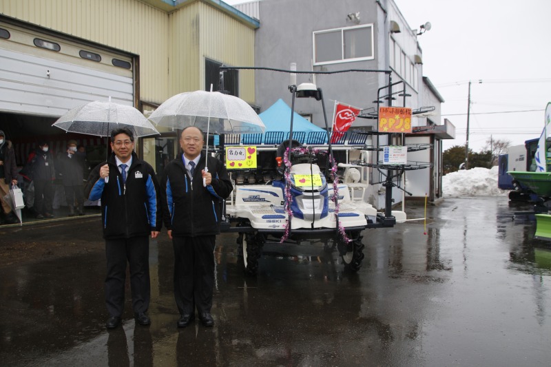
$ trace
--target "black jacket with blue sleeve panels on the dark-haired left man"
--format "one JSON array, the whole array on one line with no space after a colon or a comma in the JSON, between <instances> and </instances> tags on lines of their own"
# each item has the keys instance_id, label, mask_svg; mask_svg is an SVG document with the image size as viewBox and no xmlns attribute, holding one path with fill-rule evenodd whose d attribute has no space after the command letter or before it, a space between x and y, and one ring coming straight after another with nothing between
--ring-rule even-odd
<instances>
[{"instance_id":1,"label":"black jacket with blue sleeve panels on the dark-haired left man","mask_svg":"<svg viewBox=\"0 0 551 367\"><path fill-rule=\"evenodd\" d=\"M99 175L105 163L109 165L107 183ZM90 172L84 192L88 200L101 199L103 238L132 238L160 231L162 210L155 171L134 152L126 184L112 154Z\"/></svg>"}]
</instances>

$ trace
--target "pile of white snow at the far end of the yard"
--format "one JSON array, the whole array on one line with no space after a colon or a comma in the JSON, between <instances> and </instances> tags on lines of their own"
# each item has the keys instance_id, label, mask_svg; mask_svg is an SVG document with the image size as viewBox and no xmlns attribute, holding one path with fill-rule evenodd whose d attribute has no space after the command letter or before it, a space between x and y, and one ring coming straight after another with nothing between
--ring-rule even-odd
<instances>
[{"instance_id":1,"label":"pile of white snow at the far end of the yard","mask_svg":"<svg viewBox=\"0 0 551 367\"><path fill-rule=\"evenodd\" d=\"M475 167L461 169L442 176L442 191L446 196L502 196L509 191L497 187L497 166L492 169Z\"/></svg>"}]
</instances>

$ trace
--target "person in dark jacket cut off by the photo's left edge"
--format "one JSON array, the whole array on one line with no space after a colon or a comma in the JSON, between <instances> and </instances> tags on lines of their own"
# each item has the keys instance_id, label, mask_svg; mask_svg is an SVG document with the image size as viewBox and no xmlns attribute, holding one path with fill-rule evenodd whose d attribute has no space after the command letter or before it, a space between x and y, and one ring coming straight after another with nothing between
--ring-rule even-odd
<instances>
[{"instance_id":1,"label":"person in dark jacket cut off by the photo's left edge","mask_svg":"<svg viewBox=\"0 0 551 367\"><path fill-rule=\"evenodd\" d=\"M12 185L17 185L17 163L15 162L15 151L12 142L6 140L6 134L0 130L0 203L2 206L0 223L19 223L17 216L12 213L11 203L4 200Z\"/></svg>"}]
</instances>

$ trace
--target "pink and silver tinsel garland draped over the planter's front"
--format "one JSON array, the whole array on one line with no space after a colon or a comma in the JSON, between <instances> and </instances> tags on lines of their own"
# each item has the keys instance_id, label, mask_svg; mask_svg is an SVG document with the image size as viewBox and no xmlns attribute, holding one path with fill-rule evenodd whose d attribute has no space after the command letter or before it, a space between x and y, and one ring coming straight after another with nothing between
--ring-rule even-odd
<instances>
[{"instance_id":1,"label":"pink and silver tinsel garland draped over the planter's front","mask_svg":"<svg viewBox=\"0 0 551 367\"><path fill-rule=\"evenodd\" d=\"M344 231L344 227L342 227L342 224L339 220L340 204L337 201L337 198L339 197L339 188L338 188L338 179L337 179L337 162L335 162L335 158L327 154L327 151L321 150L319 148L310 149L308 147L296 147L296 148L293 148L292 151L300 154L326 154L327 156L329 156L329 162L332 164L331 179L333 180L333 197L331 198L331 200L335 203L335 220L337 221L337 224L339 226L339 234L342 241L344 243L351 242L351 240L346 235L346 231ZM287 240L287 238L289 238L289 231L290 231L289 224L291 223L291 218L293 218L293 211L291 210L291 200L293 200L293 198L291 197L291 161L289 160L289 148L285 149L285 153L283 155L283 162L284 162L284 165L287 167L284 171L285 202L284 202L283 209L287 211L288 220L287 220L287 223L285 224L285 231L283 233L280 243L284 242L284 240Z\"/></svg>"}]
</instances>

